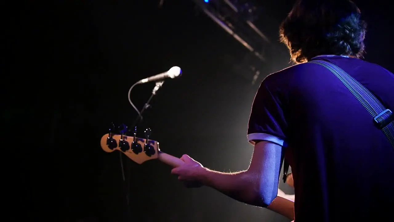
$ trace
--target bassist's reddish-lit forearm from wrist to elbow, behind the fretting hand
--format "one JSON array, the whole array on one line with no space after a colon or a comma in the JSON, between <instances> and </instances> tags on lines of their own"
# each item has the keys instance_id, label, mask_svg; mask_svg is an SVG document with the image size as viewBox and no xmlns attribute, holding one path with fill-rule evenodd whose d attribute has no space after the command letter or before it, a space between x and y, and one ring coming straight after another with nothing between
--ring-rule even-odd
<instances>
[{"instance_id":1,"label":"bassist's reddish-lit forearm from wrist to elbow, behind the fretting hand","mask_svg":"<svg viewBox=\"0 0 394 222\"><path fill-rule=\"evenodd\" d=\"M256 177L247 171L222 173L204 168L199 177L205 186L210 186L237 201L258 207L269 205L256 189Z\"/></svg>"}]
</instances>

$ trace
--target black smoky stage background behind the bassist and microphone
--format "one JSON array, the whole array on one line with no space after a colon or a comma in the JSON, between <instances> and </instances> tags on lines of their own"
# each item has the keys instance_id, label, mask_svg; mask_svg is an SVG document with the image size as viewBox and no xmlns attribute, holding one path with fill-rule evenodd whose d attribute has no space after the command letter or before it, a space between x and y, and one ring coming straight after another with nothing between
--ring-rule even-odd
<instances>
[{"instance_id":1,"label":"black smoky stage background behind the bassist and microphone","mask_svg":"<svg viewBox=\"0 0 394 222\"><path fill-rule=\"evenodd\" d=\"M257 1L255 24L271 41L262 79L290 66L278 26L294 1ZM365 59L390 71L390 2L356 1L368 22ZM171 168L102 151L109 124L132 124L139 79L180 66L144 113L141 130L174 156L219 171L246 169L247 120L258 83L248 51L191 0L13 2L2 7L3 218L25 221L288 221L210 188L186 189ZM373 73L371 73L373 75ZM141 109L154 83L138 85ZM143 136L143 135L140 135ZM280 188L292 190L284 184Z\"/></svg>"}]
</instances>

